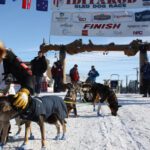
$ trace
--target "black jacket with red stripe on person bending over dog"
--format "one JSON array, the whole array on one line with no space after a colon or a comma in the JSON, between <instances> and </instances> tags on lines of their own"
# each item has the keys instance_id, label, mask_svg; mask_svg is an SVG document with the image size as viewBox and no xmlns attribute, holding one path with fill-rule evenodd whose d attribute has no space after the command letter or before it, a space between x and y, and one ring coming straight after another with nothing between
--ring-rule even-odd
<instances>
[{"instance_id":1,"label":"black jacket with red stripe on person bending over dog","mask_svg":"<svg viewBox=\"0 0 150 150\"><path fill-rule=\"evenodd\" d=\"M3 59L3 64L4 75L12 74L22 88L27 88L33 94L32 71L12 51L7 51L6 57Z\"/></svg>"}]
</instances>

